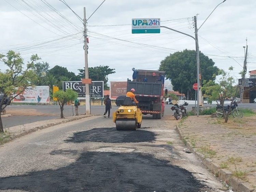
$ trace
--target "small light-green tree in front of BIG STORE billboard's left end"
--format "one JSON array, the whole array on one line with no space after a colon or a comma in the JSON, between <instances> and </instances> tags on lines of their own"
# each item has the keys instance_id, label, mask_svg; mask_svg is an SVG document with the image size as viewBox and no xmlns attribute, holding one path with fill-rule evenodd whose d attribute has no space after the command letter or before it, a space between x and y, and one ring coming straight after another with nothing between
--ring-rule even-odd
<instances>
[{"instance_id":1,"label":"small light-green tree in front of BIG STORE billboard's left end","mask_svg":"<svg viewBox=\"0 0 256 192\"><path fill-rule=\"evenodd\" d=\"M53 97L57 98L57 102L60 106L60 118L64 118L64 115L63 115L64 105L67 102L74 101L75 98L78 97L78 93L73 91L72 89L67 89L66 91L59 90L53 93Z\"/></svg>"}]
</instances>

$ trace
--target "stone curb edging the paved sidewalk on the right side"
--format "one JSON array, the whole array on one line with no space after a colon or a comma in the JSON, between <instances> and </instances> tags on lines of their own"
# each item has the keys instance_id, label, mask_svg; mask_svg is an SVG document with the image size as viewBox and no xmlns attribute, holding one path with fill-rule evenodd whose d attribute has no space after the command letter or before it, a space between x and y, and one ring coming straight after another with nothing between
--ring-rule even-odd
<instances>
[{"instance_id":1,"label":"stone curb edging the paved sidewalk on the right side","mask_svg":"<svg viewBox=\"0 0 256 192\"><path fill-rule=\"evenodd\" d=\"M181 139L185 139L178 125L176 125L176 131L179 133ZM232 172L227 169L222 169L219 165L212 162L210 158L204 158L203 154L196 151L192 145L187 141L185 144L195 156L202 161L202 163L207 166L209 171L215 174L219 179L225 181L233 191L236 192L254 192L255 190L246 186L245 183L241 183L237 178L232 177Z\"/></svg>"}]
</instances>

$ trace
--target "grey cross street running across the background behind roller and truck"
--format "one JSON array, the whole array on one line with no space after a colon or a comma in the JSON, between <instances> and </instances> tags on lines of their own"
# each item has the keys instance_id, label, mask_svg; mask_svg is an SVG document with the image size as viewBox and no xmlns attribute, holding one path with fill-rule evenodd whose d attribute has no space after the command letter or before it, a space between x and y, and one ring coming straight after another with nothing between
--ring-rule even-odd
<instances>
[{"instance_id":1,"label":"grey cross street running across the background behind roller and truck","mask_svg":"<svg viewBox=\"0 0 256 192\"><path fill-rule=\"evenodd\" d=\"M256 103L248 103L248 104L238 104L238 107L241 108L252 108L253 110L256 111ZM171 106L173 105L165 105L165 116L172 116L173 113L171 111ZM188 111L192 110L192 107L195 105L188 105L187 109ZM216 105L209 105L209 104L204 104L204 106L212 106L215 107ZM104 113L104 108L105 106L91 106L91 114L102 114ZM113 113L118 106L113 105L111 109L111 113ZM46 116L26 116L24 114L23 116L10 116L10 117L4 117L2 118L3 121L3 127L8 128L8 127L13 127L16 125L23 125L26 123L31 123L31 122L36 122L36 121L42 121L42 120L48 120L48 119L55 119L55 118L60 118L60 107L57 105L10 105L6 108L6 113L8 114L8 111L10 109L36 109L38 112L42 114L47 114ZM73 112L74 112L74 107L73 107ZM65 106L64 107L64 116L72 116L72 106ZM75 112L74 112L75 113ZM79 114L85 114L85 106L79 106ZM150 116L150 115L147 115Z\"/></svg>"}]
</instances>

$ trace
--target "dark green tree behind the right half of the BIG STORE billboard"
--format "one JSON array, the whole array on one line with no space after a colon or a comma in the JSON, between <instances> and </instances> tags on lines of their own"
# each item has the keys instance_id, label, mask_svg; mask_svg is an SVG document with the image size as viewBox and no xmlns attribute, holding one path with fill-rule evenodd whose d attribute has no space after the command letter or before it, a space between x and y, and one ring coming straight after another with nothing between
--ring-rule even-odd
<instances>
[{"instance_id":1,"label":"dark green tree behind the right half of the BIG STORE billboard","mask_svg":"<svg viewBox=\"0 0 256 192\"><path fill-rule=\"evenodd\" d=\"M115 73L115 69L110 69L109 66L96 66L96 67L89 67L89 78L93 81L104 81L104 90L109 90L108 86L108 75ZM85 78L85 70L79 69L80 73L78 74L79 78Z\"/></svg>"}]
</instances>

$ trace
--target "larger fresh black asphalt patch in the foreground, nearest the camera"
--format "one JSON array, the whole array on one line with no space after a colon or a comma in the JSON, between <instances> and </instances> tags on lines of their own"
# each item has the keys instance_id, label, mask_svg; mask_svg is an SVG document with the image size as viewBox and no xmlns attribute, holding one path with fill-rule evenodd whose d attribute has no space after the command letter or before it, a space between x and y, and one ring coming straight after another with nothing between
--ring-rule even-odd
<instances>
[{"instance_id":1,"label":"larger fresh black asphalt patch in the foreground, nearest the camera","mask_svg":"<svg viewBox=\"0 0 256 192\"><path fill-rule=\"evenodd\" d=\"M205 191L205 186L186 169L149 155L84 152L66 167L0 178L0 190L8 189L32 192L199 192Z\"/></svg>"}]
</instances>

